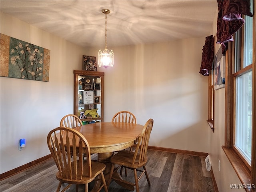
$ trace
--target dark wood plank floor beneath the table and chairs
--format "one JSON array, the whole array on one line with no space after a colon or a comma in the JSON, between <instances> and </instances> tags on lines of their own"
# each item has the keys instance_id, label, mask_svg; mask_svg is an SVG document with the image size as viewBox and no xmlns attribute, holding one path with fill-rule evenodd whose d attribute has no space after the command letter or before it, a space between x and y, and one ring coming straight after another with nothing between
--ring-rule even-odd
<instances>
[{"instance_id":1,"label":"dark wood plank floor beneath the table and chairs","mask_svg":"<svg viewBox=\"0 0 256 192\"><path fill-rule=\"evenodd\" d=\"M210 172L206 171L203 157L148 150L146 168L151 186L146 177L139 182L140 192L214 192ZM58 180L57 167L52 159L24 170L0 182L1 192L55 192ZM123 174L124 175L124 174ZM128 170L125 180L132 180ZM129 192L116 182L111 182L109 192ZM75 192L75 186L67 192ZM79 192L84 191L80 186ZM104 192L104 190L101 190ZM136 191L136 190L134 190Z\"/></svg>"}]
</instances>

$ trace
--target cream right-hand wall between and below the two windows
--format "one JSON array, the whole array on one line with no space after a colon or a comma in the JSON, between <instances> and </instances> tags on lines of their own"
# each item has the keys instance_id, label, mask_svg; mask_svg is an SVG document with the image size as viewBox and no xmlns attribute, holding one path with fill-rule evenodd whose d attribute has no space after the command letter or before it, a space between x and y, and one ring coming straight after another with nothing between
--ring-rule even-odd
<instances>
[{"instance_id":1,"label":"cream right-hand wall between and below the two windows","mask_svg":"<svg viewBox=\"0 0 256 192\"><path fill-rule=\"evenodd\" d=\"M217 31L217 10L216 20L213 22L212 34L216 35ZM220 48L220 44L215 44L215 52ZM234 192L231 190L230 184L241 184L234 168L230 164L226 154L222 150L225 145L225 88L215 90L215 101L214 101L214 133L208 126L209 136L209 150L212 170L214 172L215 180L218 185L220 192ZM220 171L218 169L218 160L220 160ZM236 189L236 192L244 192L244 189Z\"/></svg>"}]
</instances>

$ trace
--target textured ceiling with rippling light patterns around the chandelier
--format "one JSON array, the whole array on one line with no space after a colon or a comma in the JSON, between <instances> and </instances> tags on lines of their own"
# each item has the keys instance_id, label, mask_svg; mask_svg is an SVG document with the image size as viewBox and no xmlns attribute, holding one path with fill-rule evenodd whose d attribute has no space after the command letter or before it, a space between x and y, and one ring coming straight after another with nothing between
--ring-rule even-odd
<instances>
[{"instance_id":1,"label":"textured ceiling with rippling light patterns around the chandelier","mask_svg":"<svg viewBox=\"0 0 256 192\"><path fill-rule=\"evenodd\" d=\"M1 12L83 47L209 36L216 0L0 0Z\"/></svg>"}]
</instances>

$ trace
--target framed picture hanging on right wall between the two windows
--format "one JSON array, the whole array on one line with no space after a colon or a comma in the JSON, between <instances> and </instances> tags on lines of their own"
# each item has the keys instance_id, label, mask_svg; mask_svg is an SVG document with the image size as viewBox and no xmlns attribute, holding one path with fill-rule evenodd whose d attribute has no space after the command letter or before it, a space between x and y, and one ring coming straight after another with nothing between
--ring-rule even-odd
<instances>
[{"instance_id":1,"label":"framed picture hanging on right wall between the two windows","mask_svg":"<svg viewBox=\"0 0 256 192\"><path fill-rule=\"evenodd\" d=\"M214 57L214 90L225 87L225 55L220 47Z\"/></svg>"}]
</instances>

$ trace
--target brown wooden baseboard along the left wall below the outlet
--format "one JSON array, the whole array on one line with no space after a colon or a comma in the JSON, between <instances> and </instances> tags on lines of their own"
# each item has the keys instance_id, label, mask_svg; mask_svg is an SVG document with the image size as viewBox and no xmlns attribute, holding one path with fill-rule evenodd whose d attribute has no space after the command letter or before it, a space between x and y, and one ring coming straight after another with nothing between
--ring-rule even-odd
<instances>
[{"instance_id":1,"label":"brown wooden baseboard along the left wall below the outlet","mask_svg":"<svg viewBox=\"0 0 256 192\"><path fill-rule=\"evenodd\" d=\"M43 161L45 161L45 160L47 160L47 159L49 159L49 158L52 158L52 155L51 155L51 154L46 155L46 156L44 156L44 157L41 157L41 158L39 158L39 159L37 159L37 160L34 160L34 161L32 161L32 162L29 162L29 163L27 163L27 164L24 164L24 165L22 165L22 166L20 166L20 167L17 167L17 168L15 168L15 169L10 170L10 171L7 171L7 172L5 172L5 173L2 173L2 174L0 174L0 180L6 179L6 178L8 178L8 177L10 177L10 176L12 176L12 175L18 173L18 172L24 171L24 170L26 170L27 168L30 168L30 167L32 167L32 166L35 166L35 165L37 165L37 164L39 164L39 163L41 163L41 162L43 162Z\"/></svg>"}]
</instances>

